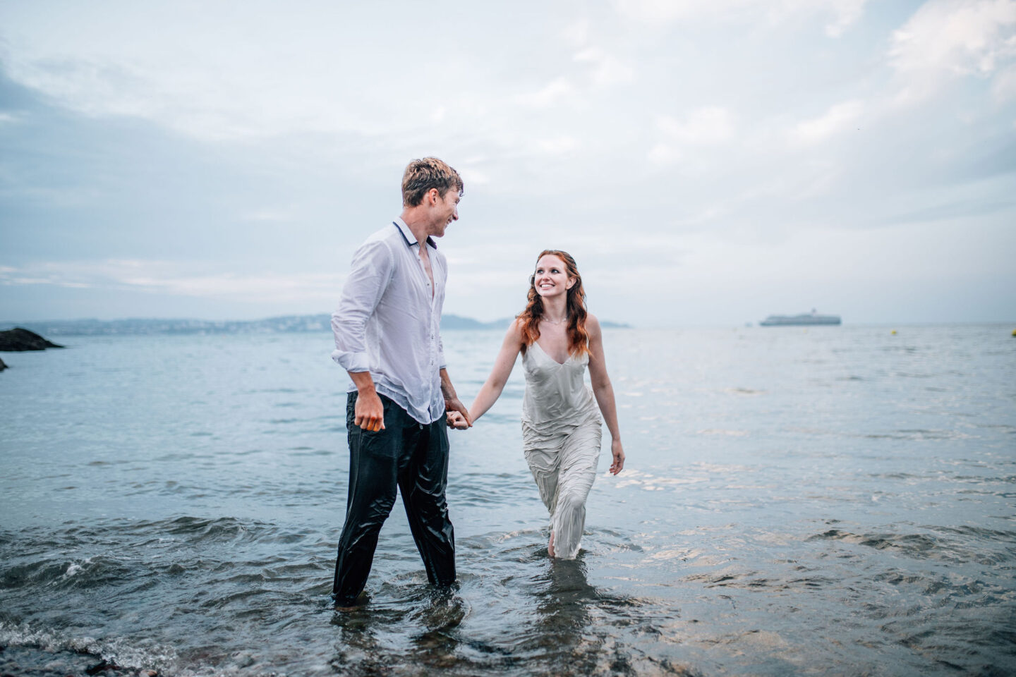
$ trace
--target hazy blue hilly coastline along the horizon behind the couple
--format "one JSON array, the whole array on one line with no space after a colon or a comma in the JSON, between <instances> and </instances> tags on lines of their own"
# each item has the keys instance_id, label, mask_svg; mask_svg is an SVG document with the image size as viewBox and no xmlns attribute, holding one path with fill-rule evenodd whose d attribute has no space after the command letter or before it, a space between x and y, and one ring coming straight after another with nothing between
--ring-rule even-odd
<instances>
[{"instance_id":1,"label":"hazy blue hilly coastline along the horizon behind the couple","mask_svg":"<svg viewBox=\"0 0 1016 677\"><path fill-rule=\"evenodd\" d=\"M441 329L484 330L506 329L511 318L493 322L481 322L457 315L441 318ZM600 321L610 329L631 329L631 325ZM248 321L213 320L52 320L46 322L18 322L0 324L0 329L10 329L15 325L29 329L43 336L129 336L145 334L292 334L303 332L324 332L331 329L331 315L287 315L277 318Z\"/></svg>"}]
</instances>

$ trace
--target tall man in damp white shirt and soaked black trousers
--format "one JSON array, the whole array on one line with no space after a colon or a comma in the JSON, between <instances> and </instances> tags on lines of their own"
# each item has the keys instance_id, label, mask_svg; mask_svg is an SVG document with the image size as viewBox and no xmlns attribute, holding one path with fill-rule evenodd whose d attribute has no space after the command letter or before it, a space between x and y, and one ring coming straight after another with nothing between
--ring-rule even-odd
<instances>
[{"instance_id":1,"label":"tall man in damp white shirt and soaked black trousers","mask_svg":"<svg viewBox=\"0 0 1016 677\"><path fill-rule=\"evenodd\" d=\"M440 330L448 273L434 238L458 220L462 193L461 177L440 159L409 162L401 216L357 250L331 316L331 356L353 380L345 409L350 492L332 588L337 607L353 606L367 584L396 487L428 581L455 581L445 410L467 420L468 410L445 368Z\"/></svg>"}]
</instances>

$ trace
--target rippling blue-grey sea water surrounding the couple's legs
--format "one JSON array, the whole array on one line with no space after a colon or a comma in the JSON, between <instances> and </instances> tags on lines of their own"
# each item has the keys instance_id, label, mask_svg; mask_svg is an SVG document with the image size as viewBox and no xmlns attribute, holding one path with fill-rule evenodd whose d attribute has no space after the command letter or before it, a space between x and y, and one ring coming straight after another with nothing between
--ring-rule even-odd
<instances>
[{"instance_id":1,"label":"rippling blue-grey sea water surrounding the couple's legs","mask_svg":"<svg viewBox=\"0 0 1016 677\"><path fill-rule=\"evenodd\" d=\"M457 590L426 585L399 501L353 612L328 335L7 353L0 672L1013 674L1016 339L897 329L609 332L627 469L601 457L572 562L517 366L452 436ZM463 399L500 341L445 335Z\"/></svg>"}]
</instances>

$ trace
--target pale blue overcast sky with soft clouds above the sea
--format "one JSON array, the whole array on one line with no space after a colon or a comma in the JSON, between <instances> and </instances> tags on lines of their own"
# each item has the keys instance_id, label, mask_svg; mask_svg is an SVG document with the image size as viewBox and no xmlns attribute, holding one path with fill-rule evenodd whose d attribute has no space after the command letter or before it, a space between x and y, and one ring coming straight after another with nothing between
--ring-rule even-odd
<instances>
[{"instance_id":1,"label":"pale blue overcast sky with soft clouds above the sea","mask_svg":"<svg viewBox=\"0 0 1016 677\"><path fill-rule=\"evenodd\" d=\"M1016 0L0 0L0 321L330 312L423 155L446 313L1016 321Z\"/></svg>"}]
</instances>

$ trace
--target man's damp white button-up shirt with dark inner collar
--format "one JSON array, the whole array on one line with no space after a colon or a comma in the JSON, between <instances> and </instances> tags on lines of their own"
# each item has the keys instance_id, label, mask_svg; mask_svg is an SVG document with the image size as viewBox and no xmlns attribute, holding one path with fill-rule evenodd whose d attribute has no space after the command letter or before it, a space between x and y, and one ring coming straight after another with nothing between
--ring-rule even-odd
<instances>
[{"instance_id":1,"label":"man's damp white button-up shirt with dark inner collar","mask_svg":"<svg viewBox=\"0 0 1016 677\"><path fill-rule=\"evenodd\" d=\"M420 259L427 247L434 285ZM331 358L347 371L370 371L378 393L421 423L444 415L440 369L448 264L434 241L417 242L401 218L381 228L353 256L353 269L331 314ZM350 386L350 392L357 390Z\"/></svg>"}]
</instances>

